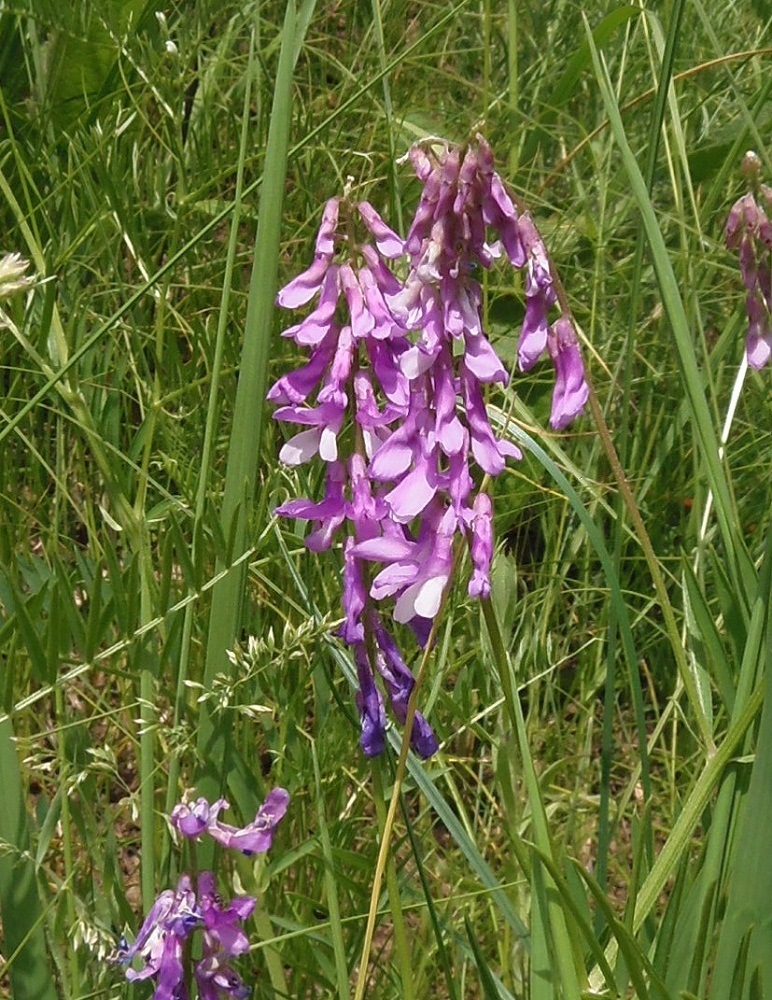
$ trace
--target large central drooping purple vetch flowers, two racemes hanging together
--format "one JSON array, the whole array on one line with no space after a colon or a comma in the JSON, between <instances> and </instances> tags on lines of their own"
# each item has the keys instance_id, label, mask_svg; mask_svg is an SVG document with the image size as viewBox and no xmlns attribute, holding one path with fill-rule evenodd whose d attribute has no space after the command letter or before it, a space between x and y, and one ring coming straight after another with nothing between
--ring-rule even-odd
<instances>
[{"instance_id":1,"label":"large central drooping purple vetch flowers, two racemes hanging together","mask_svg":"<svg viewBox=\"0 0 772 1000\"><path fill-rule=\"evenodd\" d=\"M268 393L279 406L275 418L303 428L281 461L298 466L318 456L326 464L321 500L290 500L276 512L312 522L313 552L343 535L340 636L353 648L368 756L385 744L376 676L399 722L414 685L380 603L391 599L394 620L424 646L458 536L470 549L468 592L488 596L492 506L480 473L496 476L507 458L521 457L488 419L485 387L509 377L483 329L479 268L503 259L524 272L518 363L527 371L545 351L552 359L552 426L570 423L588 397L573 320L555 308L546 247L531 216L515 207L485 140L477 135L464 148L427 140L408 157L423 190L404 240L368 202L327 202L313 263L277 297L286 309L313 304L284 331L310 356ZM424 758L438 746L420 713L411 743Z\"/></svg>"}]
</instances>

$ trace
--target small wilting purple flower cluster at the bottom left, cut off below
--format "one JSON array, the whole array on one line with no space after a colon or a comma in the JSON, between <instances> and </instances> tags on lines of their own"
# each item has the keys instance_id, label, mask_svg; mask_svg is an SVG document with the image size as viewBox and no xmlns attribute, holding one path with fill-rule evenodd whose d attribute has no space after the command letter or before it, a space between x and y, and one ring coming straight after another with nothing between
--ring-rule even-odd
<instances>
[{"instance_id":1,"label":"small wilting purple flower cluster at the bottom left, cut off below","mask_svg":"<svg viewBox=\"0 0 772 1000\"><path fill-rule=\"evenodd\" d=\"M247 855L263 853L271 846L276 825L288 804L287 792L275 788L253 822L239 830L218 820L220 812L228 807L224 799L211 806L206 799L198 799L193 805L181 802L175 806L171 822L185 837L197 838L206 833L224 847ZM200 1000L221 1000L224 996L243 1000L249 995L249 987L230 960L249 950L241 923L254 908L251 896L236 896L224 904L210 871L198 876L197 891L191 877L183 874L175 890L166 889L159 895L134 943L122 945L116 958L122 963L142 959L142 968L128 968L126 978L131 982L155 979L154 1000L187 1000L186 944L196 930L201 930L201 958L193 971Z\"/></svg>"}]
</instances>

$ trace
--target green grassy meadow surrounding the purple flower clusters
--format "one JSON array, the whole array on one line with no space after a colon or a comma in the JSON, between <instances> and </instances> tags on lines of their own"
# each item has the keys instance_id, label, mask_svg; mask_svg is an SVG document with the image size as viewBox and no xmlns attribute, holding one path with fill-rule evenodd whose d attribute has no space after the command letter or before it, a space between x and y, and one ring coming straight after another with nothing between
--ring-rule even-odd
<instances>
[{"instance_id":1,"label":"green grassy meadow surrounding the purple flower clusters","mask_svg":"<svg viewBox=\"0 0 772 1000\"><path fill-rule=\"evenodd\" d=\"M283 785L270 853L219 867L256 998L772 996L770 371L724 245L746 149L772 182L768 4L159 6L0 6L0 250L35 275L0 317L0 993L150 996L109 956L176 881L164 816ZM363 971L400 735L361 754L340 553L271 513L320 486L277 460L273 300L349 176L403 230L397 157L475 128L597 406L549 431L548 362L490 399L526 451L497 628L459 584ZM510 365L523 308L493 269Z\"/></svg>"}]
</instances>

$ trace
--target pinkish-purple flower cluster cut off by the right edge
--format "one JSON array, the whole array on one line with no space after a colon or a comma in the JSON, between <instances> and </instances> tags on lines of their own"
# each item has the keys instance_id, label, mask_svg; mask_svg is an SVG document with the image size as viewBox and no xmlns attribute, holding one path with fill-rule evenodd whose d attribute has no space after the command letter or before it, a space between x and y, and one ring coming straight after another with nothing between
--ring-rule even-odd
<instances>
[{"instance_id":1,"label":"pinkish-purple flower cluster cut off by the right edge","mask_svg":"<svg viewBox=\"0 0 772 1000\"><path fill-rule=\"evenodd\" d=\"M755 153L746 153L743 169L752 181L760 163ZM753 184L748 194L732 206L726 223L726 245L739 250L740 271L747 290L748 364L761 369L772 356L772 188Z\"/></svg>"}]
</instances>

